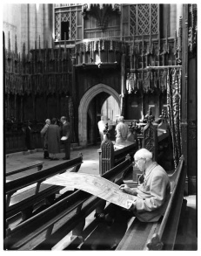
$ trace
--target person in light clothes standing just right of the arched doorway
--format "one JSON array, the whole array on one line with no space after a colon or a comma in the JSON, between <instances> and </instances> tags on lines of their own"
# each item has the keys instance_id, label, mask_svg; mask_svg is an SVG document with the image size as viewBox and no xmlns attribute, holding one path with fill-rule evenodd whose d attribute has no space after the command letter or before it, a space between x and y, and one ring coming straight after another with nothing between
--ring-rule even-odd
<instances>
[{"instance_id":1,"label":"person in light clothes standing just right of the arched doorway","mask_svg":"<svg viewBox=\"0 0 201 256\"><path fill-rule=\"evenodd\" d=\"M127 140L129 133L129 126L124 123L124 116L118 117L118 123L116 127L116 144L122 144Z\"/></svg>"}]
</instances>

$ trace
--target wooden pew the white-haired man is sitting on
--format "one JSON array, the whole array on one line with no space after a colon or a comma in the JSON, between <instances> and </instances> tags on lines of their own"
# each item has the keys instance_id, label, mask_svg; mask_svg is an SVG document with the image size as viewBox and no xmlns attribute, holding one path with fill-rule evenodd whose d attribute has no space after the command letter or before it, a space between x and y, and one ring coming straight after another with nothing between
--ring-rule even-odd
<instances>
[{"instance_id":1,"label":"wooden pew the white-haired man is sitting on","mask_svg":"<svg viewBox=\"0 0 201 256\"><path fill-rule=\"evenodd\" d=\"M133 219L130 227L116 250L173 250L178 230L178 222L184 203L183 169L184 156L180 157L178 169L170 176L171 198L164 218L155 223L143 223Z\"/></svg>"}]
</instances>

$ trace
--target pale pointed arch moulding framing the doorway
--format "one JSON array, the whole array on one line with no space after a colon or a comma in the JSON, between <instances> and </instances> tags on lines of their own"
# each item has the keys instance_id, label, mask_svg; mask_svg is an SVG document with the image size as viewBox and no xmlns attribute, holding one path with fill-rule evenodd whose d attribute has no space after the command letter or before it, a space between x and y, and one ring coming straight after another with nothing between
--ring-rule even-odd
<instances>
[{"instance_id":1,"label":"pale pointed arch moulding framing the doorway","mask_svg":"<svg viewBox=\"0 0 201 256\"><path fill-rule=\"evenodd\" d=\"M79 135L79 144L81 146L87 146L87 110L90 105L90 100L92 100L98 93L109 93L111 96L117 100L118 106L120 107L120 98L119 94L110 86L104 84L97 84L90 88L80 100L78 108L78 135Z\"/></svg>"}]
</instances>

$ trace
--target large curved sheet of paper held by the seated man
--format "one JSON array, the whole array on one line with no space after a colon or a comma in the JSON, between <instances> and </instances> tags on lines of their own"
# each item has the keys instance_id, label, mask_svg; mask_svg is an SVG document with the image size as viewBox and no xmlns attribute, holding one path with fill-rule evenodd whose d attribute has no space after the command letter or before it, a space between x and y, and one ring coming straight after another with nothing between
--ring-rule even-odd
<instances>
[{"instance_id":1,"label":"large curved sheet of paper held by the seated man","mask_svg":"<svg viewBox=\"0 0 201 256\"><path fill-rule=\"evenodd\" d=\"M65 172L53 176L43 183L84 190L125 209L129 209L131 204L136 200L135 196L119 190L119 186L116 183L112 183L104 177L86 173Z\"/></svg>"}]
</instances>

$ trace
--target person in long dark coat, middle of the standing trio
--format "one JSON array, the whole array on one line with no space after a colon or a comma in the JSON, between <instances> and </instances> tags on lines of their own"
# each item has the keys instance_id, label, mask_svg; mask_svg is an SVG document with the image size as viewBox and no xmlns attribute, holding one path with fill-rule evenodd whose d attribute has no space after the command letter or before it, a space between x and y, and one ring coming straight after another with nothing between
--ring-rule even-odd
<instances>
[{"instance_id":1,"label":"person in long dark coat, middle of the standing trio","mask_svg":"<svg viewBox=\"0 0 201 256\"><path fill-rule=\"evenodd\" d=\"M47 129L47 142L50 160L58 160L57 153L60 151L60 132L57 126L56 118L52 118Z\"/></svg>"}]
</instances>

